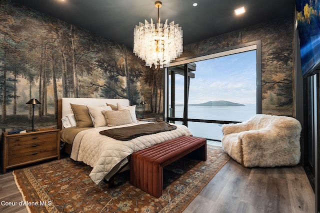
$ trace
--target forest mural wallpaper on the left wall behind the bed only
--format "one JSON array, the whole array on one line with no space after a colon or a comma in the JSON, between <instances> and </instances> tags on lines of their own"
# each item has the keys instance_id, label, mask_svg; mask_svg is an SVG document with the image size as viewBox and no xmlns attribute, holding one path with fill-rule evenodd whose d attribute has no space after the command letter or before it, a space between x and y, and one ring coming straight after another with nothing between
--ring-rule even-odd
<instances>
[{"instance_id":1,"label":"forest mural wallpaper on the left wall behind the bed only","mask_svg":"<svg viewBox=\"0 0 320 213\"><path fill-rule=\"evenodd\" d=\"M146 67L123 44L28 9L0 3L1 128L28 128L36 98L36 127L56 125L62 97L144 100L162 113L163 72Z\"/></svg>"}]
</instances>

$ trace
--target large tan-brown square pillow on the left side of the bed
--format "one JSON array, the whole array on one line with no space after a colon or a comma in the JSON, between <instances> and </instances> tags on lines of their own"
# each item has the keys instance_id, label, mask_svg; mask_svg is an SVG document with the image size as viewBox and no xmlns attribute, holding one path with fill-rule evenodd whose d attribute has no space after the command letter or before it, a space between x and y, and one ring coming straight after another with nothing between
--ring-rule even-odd
<instances>
[{"instance_id":1,"label":"large tan-brown square pillow on the left side of the bed","mask_svg":"<svg viewBox=\"0 0 320 213\"><path fill-rule=\"evenodd\" d=\"M76 127L93 127L93 123L89 114L89 110L85 105L71 104L71 109L73 111Z\"/></svg>"}]
</instances>

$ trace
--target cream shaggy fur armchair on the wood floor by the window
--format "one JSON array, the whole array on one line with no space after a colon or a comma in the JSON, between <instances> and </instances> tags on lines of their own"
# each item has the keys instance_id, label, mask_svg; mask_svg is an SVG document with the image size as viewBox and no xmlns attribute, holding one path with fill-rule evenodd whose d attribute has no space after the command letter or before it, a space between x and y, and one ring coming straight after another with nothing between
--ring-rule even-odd
<instances>
[{"instance_id":1,"label":"cream shaggy fur armchair on the wood floor by the window","mask_svg":"<svg viewBox=\"0 0 320 213\"><path fill-rule=\"evenodd\" d=\"M258 114L222 125L222 150L243 167L293 166L300 161L298 120Z\"/></svg>"}]
</instances>

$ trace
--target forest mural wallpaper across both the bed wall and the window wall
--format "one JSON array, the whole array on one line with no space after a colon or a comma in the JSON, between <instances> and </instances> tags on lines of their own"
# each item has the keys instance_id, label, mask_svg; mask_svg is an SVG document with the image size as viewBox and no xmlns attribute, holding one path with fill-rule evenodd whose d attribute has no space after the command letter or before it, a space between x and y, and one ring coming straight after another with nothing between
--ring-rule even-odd
<instances>
[{"instance_id":1,"label":"forest mural wallpaper across both the bed wall and the window wall","mask_svg":"<svg viewBox=\"0 0 320 213\"><path fill-rule=\"evenodd\" d=\"M0 1L0 128L56 127L62 97L143 100L162 117L163 71L146 67L132 49L10 0ZM254 40L262 44L262 113L293 116L293 21L276 19L184 45L192 56ZM133 27L132 27L133 33ZM129 35L128 35L129 36Z\"/></svg>"}]
</instances>

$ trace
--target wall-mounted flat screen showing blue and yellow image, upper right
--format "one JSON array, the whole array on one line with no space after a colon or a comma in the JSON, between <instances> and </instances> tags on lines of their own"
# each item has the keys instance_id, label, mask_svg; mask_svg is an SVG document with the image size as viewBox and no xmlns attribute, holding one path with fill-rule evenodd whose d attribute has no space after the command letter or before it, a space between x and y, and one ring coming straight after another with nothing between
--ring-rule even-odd
<instances>
[{"instance_id":1,"label":"wall-mounted flat screen showing blue and yellow image, upper right","mask_svg":"<svg viewBox=\"0 0 320 213\"><path fill-rule=\"evenodd\" d=\"M320 72L320 0L296 0L302 76Z\"/></svg>"}]
</instances>

